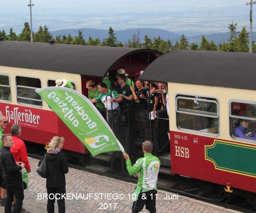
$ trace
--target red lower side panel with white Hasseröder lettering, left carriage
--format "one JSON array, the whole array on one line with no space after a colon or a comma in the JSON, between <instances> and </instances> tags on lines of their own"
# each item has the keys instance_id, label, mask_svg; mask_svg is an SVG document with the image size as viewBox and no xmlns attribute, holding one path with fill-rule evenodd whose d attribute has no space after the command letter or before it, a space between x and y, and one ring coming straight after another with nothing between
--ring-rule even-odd
<instances>
[{"instance_id":1,"label":"red lower side panel with white Hasser\u00f6der lettering, left carriage","mask_svg":"<svg viewBox=\"0 0 256 213\"><path fill-rule=\"evenodd\" d=\"M46 144L57 135L65 138L63 149L88 153L84 145L53 111L6 103L0 103L0 111L9 121L4 133L10 133L11 125L17 123L22 127L23 140Z\"/></svg>"}]
</instances>

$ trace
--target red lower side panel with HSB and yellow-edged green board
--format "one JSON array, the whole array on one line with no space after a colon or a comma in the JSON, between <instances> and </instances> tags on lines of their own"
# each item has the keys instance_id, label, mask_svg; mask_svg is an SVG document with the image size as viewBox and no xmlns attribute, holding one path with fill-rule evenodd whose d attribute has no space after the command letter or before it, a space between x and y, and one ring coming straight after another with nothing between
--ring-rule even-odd
<instances>
[{"instance_id":1,"label":"red lower side panel with HSB and yellow-edged green board","mask_svg":"<svg viewBox=\"0 0 256 213\"><path fill-rule=\"evenodd\" d=\"M170 131L172 173L256 192L256 145Z\"/></svg>"}]
</instances>

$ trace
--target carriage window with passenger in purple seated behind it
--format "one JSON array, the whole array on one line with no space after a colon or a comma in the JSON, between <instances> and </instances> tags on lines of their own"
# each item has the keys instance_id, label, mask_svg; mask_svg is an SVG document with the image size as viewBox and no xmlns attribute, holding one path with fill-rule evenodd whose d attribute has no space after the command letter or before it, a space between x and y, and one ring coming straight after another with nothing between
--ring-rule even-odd
<instances>
[{"instance_id":1,"label":"carriage window with passenger in purple seated behind it","mask_svg":"<svg viewBox=\"0 0 256 213\"><path fill-rule=\"evenodd\" d=\"M256 103L230 102L230 135L256 142Z\"/></svg>"}]
</instances>

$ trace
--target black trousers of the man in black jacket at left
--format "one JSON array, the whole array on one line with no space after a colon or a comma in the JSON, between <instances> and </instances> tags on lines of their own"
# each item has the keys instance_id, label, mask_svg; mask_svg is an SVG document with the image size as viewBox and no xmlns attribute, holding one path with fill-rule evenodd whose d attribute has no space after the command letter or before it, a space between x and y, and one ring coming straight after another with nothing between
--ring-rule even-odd
<instances>
[{"instance_id":1,"label":"black trousers of the man in black jacket at left","mask_svg":"<svg viewBox=\"0 0 256 213\"><path fill-rule=\"evenodd\" d=\"M22 185L22 178L16 179L5 179L4 182L6 184L6 201L4 206L4 213L11 213L12 211L12 201L13 195L15 195L16 203L15 203L15 213L20 213L22 207L22 201L24 199L24 190Z\"/></svg>"}]
</instances>

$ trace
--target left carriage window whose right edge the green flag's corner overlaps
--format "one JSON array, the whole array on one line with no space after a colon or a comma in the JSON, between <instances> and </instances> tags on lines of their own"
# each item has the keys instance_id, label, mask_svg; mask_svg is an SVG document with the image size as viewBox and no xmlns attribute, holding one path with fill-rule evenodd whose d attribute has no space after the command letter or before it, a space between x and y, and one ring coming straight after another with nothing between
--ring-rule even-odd
<instances>
[{"instance_id":1,"label":"left carriage window whose right edge the green flag's corner overlaps","mask_svg":"<svg viewBox=\"0 0 256 213\"><path fill-rule=\"evenodd\" d=\"M35 92L38 88L41 88L41 80L39 78L16 76L18 103L42 106L42 98Z\"/></svg>"}]
</instances>

